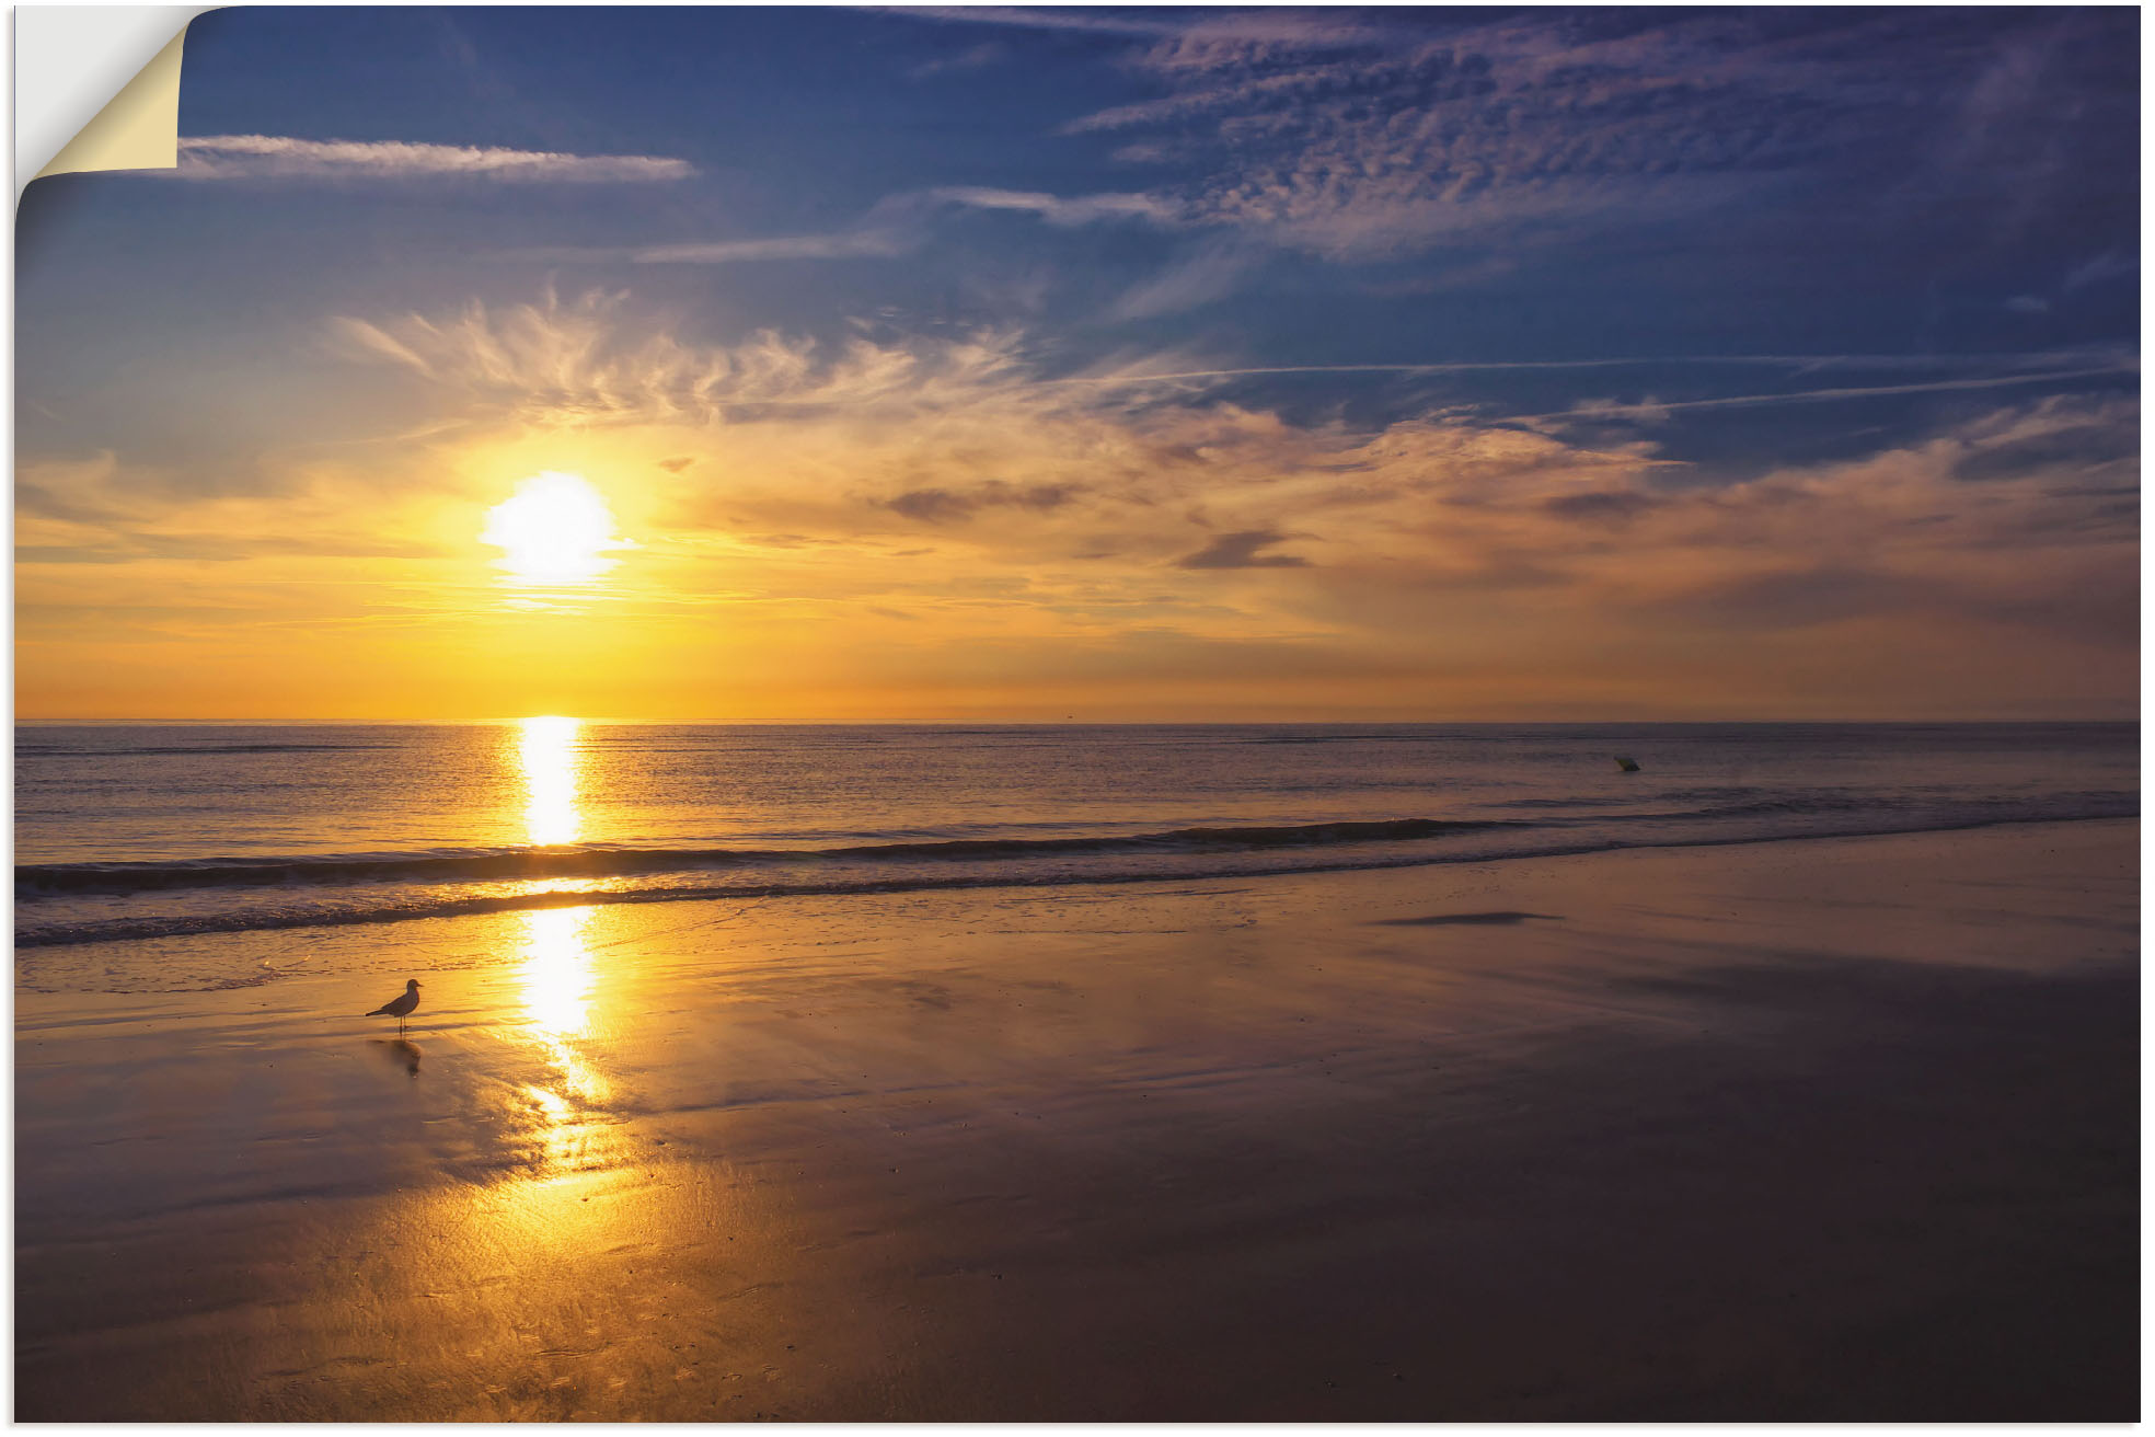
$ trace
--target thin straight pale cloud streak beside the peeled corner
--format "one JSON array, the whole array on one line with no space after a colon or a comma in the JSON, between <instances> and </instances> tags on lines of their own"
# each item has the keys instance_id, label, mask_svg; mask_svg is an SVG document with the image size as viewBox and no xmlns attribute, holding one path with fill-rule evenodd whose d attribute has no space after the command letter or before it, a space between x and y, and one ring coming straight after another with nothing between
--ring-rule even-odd
<instances>
[{"instance_id":1,"label":"thin straight pale cloud streak beside the peeled corner","mask_svg":"<svg viewBox=\"0 0 2155 1437\"><path fill-rule=\"evenodd\" d=\"M640 183L690 179L685 159L560 155L554 151L407 144L401 140L295 140L289 136L181 136L177 179L489 179L509 183Z\"/></svg>"}]
</instances>

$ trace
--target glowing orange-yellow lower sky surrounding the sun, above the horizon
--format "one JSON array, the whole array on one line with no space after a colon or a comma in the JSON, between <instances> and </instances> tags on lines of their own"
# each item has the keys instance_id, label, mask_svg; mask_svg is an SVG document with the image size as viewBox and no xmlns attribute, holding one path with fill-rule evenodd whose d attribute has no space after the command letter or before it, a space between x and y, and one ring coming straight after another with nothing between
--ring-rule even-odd
<instances>
[{"instance_id":1,"label":"glowing orange-yellow lower sky surrounding the sun, above the horizon","mask_svg":"<svg viewBox=\"0 0 2155 1437\"><path fill-rule=\"evenodd\" d=\"M22 465L22 720L2133 711L2129 536L2041 470L1957 478L2118 401L1685 489L1644 442L1039 383L1015 338L698 351L597 299L332 332L420 433L213 496ZM634 545L588 584L478 539L541 472Z\"/></svg>"}]
</instances>

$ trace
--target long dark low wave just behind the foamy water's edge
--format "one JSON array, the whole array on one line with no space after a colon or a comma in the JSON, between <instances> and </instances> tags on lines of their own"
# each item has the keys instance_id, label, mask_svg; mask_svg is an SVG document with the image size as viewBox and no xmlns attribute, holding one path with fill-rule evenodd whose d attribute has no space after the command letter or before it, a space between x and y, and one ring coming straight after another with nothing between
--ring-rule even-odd
<instances>
[{"instance_id":1,"label":"long dark low wave just behind the foamy water's edge","mask_svg":"<svg viewBox=\"0 0 2155 1437\"><path fill-rule=\"evenodd\" d=\"M575 845L547 849L425 849L416 853L291 853L267 857L17 864L15 896L17 901L34 901L62 894L119 896L172 888L627 879L657 873L823 862L978 862L1090 853L1237 853L1353 842L1412 842L1493 827L1526 825L1504 819L1381 819L1259 827L1177 827L1157 834L1099 834L1082 838L942 838L828 849L629 849L618 845Z\"/></svg>"}]
</instances>

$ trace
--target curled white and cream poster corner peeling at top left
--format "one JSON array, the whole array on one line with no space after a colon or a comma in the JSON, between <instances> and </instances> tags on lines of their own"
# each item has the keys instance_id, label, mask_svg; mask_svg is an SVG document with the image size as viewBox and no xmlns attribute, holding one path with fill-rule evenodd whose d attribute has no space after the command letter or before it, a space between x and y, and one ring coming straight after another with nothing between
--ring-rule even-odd
<instances>
[{"instance_id":1,"label":"curled white and cream poster corner peeling at top left","mask_svg":"<svg viewBox=\"0 0 2155 1437\"><path fill-rule=\"evenodd\" d=\"M32 179L179 164L187 24L213 6L15 9L15 200Z\"/></svg>"}]
</instances>

